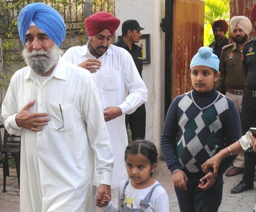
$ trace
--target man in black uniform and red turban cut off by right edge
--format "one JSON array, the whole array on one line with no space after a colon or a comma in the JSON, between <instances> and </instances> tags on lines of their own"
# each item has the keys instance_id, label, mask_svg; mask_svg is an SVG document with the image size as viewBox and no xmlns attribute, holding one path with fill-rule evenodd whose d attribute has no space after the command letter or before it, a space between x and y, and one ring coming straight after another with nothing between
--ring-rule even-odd
<instances>
[{"instance_id":1,"label":"man in black uniform and red turban cut off by right edge","mask_svg":"<svg viewBox=\"0 0 256 212\"><path fill-rule=\"evenodd\" d=\"M250 19L256 30L256 4L251 9ZM243 68L246 76L242 100L243 135L250 127L256 127L256 37L248 41L243 48ZM231 193L241 193L254 188L256 165L255 152L245 152L245 168L242 181L232 188Z\"/></svg>"}]
</instances>

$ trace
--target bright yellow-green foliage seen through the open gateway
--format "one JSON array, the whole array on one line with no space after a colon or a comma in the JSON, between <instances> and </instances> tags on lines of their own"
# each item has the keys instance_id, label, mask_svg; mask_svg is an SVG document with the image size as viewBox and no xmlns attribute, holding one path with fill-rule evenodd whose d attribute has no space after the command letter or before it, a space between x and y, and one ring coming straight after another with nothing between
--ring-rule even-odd
<instances>
[{"instance_id":1,"label":"bright yellow-green foliage seen through the open gateway","mask_svg":"<svg viewBox=\"0 0 256 212\"><path fill-rule=\"evenodd\" d=\"M214 36L212 30L213 21L225 19L229 21L230 0L204 0L204 46L213 43ZM229 34L229 30L226 35Z\"/></svg>"}]
</instances>

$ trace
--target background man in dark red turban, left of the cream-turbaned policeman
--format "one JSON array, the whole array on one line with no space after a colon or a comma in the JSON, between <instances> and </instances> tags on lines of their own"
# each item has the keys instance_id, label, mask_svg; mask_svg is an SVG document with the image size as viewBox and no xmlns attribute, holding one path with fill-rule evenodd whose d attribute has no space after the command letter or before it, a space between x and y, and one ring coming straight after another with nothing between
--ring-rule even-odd
<instances>
[{"instance_id":1,"label":"background man in dark red turban, left of the cream-turbaned policeman","mask_svg":"<svg viewBox=\"0 0 256 212\"><path fill-rule=\"evenodd\" d=\"M228 39L225 36L228 31L228 23L225 20L217 20L213 22L212 28L215 41L209 47L213 49L213 54L220 58L222 47L228 45Z\"/></svg>"}]
</instances>

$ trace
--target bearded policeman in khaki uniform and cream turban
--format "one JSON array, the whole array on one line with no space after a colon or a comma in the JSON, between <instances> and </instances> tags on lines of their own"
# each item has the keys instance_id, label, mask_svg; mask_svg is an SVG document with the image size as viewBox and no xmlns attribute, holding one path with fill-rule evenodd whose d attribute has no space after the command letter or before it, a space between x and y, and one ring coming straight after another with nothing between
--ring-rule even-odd
<instances>
[{"instance_id":1,"label":"bearded policeman in khaki uniform and cream turban","mask_svg":"<svg viewBox=\"0 0 256 212\"><path fill-rule=\"evenodd\" d=\"M234 43L223 47L220 56L219 71L221 73L222 84L217 90L230 97L241 115L242 97L245 88L245 74L243 71L243 46L247 41L247 36L252 30L250 20L245 16L234 16L230 19L230 28ZM243 172L244 154L241 153L233 163L226 176L235 176Z\"/></svg>"}]
</instances>

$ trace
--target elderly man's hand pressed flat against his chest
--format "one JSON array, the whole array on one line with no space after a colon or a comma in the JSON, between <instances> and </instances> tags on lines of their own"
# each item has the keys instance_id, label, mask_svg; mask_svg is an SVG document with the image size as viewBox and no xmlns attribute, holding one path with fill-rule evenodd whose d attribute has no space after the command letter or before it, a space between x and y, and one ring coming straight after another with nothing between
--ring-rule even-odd
<instances>
[{"instance_id":1,"label":"elderly man's hand pressed flat against his chest","mask_svg":"<svg viewBox=\"0 0 256 212\"><path fill-rule=\"evenodd\" d=\"M47 118L48 113L31 113L29 109L34 104L35 100L23 107L22 110L17 113L15 121L19 127L38 132L43 130L43 126L48 124L50 118Z\"/></svg>"}]
</instances>

